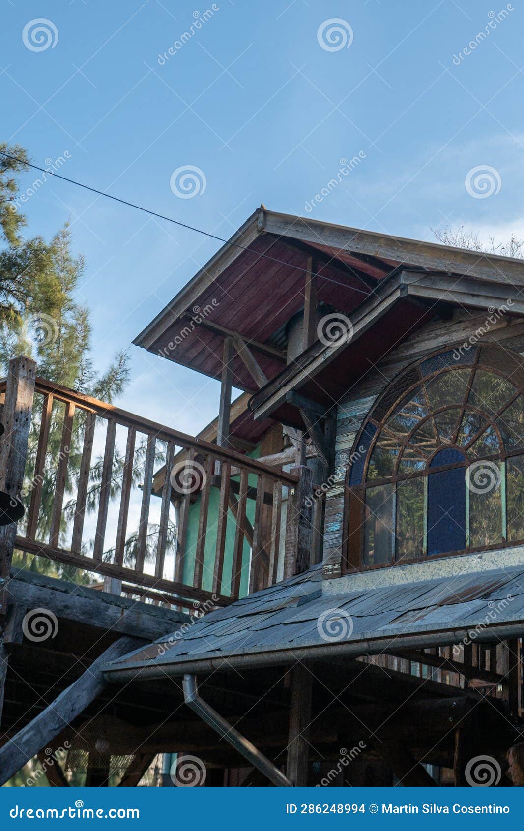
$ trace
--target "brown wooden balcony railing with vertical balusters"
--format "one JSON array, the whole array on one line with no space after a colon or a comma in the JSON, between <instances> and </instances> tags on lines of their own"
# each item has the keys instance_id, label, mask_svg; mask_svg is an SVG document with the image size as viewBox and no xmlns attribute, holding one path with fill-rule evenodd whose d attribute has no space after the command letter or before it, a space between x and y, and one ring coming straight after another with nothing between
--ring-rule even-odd
<instances>
[{"instance_id":1,"label":"brown wooden balcony railing with vertical balusters","mask_svg":"<svg viewBox=\"0 0 524 831\"><path fill-rule=\"evenodd\" d=\"M14 389L0 382L2 401ZM276 581L296 522L282 503L298 480L37 377L15 547L124 581L128 593L227 603Z\"/></svg>"}]
</instances>

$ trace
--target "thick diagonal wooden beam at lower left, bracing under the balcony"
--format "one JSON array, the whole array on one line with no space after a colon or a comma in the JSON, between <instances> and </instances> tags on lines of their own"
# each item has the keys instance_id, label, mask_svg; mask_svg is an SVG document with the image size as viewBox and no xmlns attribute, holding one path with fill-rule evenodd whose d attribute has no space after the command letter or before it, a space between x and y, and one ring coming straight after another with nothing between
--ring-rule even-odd
<instances>
[{"instance_id":1,"label":"thick diagonal wooden beam at lower left, bracing under the balcony","mask_svg":"<svg viewBox=\"0 0 524 831\"><path fill-rule=\"evenodd\" d=\"M105 663L132 652L142 643L144 641L132 637L122 637L112 643L77 681L68 686L51 705L3 745L0 749L0 784L6 784L22 769L28 759L36 756L100 695L107 686L101 671Z\"/></svg>"}]
</instances>

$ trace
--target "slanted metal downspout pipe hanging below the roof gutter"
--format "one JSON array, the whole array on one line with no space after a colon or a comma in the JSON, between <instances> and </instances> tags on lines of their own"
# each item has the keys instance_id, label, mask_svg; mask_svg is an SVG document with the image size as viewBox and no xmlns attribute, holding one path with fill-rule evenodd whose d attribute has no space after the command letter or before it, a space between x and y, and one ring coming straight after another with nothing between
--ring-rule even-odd
<instances>
[{"instance_id":1,"label":"slanted metal downspout pipe hanging below the roof gutter","mask_svg":"<svg viewBox=\"0 0 524 831\"><path fill-rule=\"evenodd\" d=\"M257 750L255 745L246 739L244 735L235 730L229 724L228 720L220 715L213 707L204 701L198 695L197 677L193 675L184 675L184 701L203 721L210 727L213 727L218 735L225 739L234 750L237 750L240 755L247 759L250 765L260 770L264 776L267 776L273 784L279 787L292 787L293 783L284 776L282 770L278 770L277 765L273 765L260 750Z\"/></svg>"}]
</instances>

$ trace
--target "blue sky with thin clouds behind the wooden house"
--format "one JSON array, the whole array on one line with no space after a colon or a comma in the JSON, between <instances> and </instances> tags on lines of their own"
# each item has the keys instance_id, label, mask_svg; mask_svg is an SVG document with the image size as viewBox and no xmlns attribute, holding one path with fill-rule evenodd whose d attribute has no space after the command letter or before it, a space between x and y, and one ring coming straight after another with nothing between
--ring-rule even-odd
<instances>
[{"instance_id":1,"label":"blue sky with thin clouds behind the wooden house","mask_svg":"<svg viewBox=\"0 0 524 831\"><path fill-rule=\"evenodd\" d=\"M522 0L0 0L0 16L0 136L37 165L67 153L64 175L224 237L261 202L416 238L524 237ZM205 189L198 174L182 199L170 181L187 167ZM25 212L47 237L71 220L100 367L218 248L56 179ZM217 382L130 356L124 406L190 433L216 414Z\"/></svg>"}]
</instances>

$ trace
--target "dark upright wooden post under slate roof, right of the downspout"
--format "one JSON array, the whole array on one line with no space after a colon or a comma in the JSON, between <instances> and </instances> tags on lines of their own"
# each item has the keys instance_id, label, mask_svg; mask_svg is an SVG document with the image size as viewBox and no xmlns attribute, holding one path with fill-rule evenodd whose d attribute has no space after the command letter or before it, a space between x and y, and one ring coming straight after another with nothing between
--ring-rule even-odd
<instances>
[{"instance_id":1,"label":"dark upright wooden post under slate roof, right of the downspout","mask_svg":"<svg viewBox=\"0 0 524 831\"><path fill-rule=\"evenodd\" d=\"M291 706L287 742L287 779L296 787L307 785L311 723L311 672L296 664L291 670Z\"/></svg>"}]
</instances>

